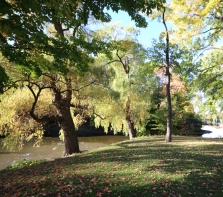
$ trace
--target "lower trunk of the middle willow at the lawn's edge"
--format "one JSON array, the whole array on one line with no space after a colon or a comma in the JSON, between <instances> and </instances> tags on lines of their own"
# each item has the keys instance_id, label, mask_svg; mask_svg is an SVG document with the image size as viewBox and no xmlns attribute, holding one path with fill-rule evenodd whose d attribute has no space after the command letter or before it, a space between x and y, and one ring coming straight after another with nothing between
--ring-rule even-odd
<instances>
[{"instance_id":1,"label":"lower trunk of the middle willow at the lawn's edge","mask_svg":"<svg viewBox=\"0 0 223 197\"><path fill-rule=\"evenodd\" d=\"M126 113L126 124L127 124L127 128L128 128L129 139L131 140L136 137L136 130L134 128L134 122L131 120L131 109L130 109L130 98L129 97L126 102L125 113Z\"/></svg>"}]
</instances>

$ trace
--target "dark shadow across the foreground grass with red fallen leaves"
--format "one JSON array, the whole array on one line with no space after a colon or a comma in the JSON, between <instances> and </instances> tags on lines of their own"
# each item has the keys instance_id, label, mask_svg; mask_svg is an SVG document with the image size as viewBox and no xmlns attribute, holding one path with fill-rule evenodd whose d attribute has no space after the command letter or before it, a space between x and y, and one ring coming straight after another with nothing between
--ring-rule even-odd
<instances>
[{"instance_id":1,"label":"dark shadow across the foreground grass with red fallen leaves","mask_svg":"<svg viewBox=\"0 0 223 197\"><path fill-rule=\"evenodd\" d=\"M40 170L40 169L39 169ZM0 187L3 196L221 196L222 182L216 173L203 174L193 171L182 179L150 178L150 176L133 176L131 172L82 172L57 174L48 177L47 172L40 176L29 171L29 176L21 176L18 182L10 179ZM20 172L21 173L21 172ZM25 172L23 172L25 173ZM37 173L37 174L36 174ZM153 173L154 174L154 173ZM35 177L35 176L38 176ZM10 177L9 177L10 178Z\"/></svg>"}]
</instances>

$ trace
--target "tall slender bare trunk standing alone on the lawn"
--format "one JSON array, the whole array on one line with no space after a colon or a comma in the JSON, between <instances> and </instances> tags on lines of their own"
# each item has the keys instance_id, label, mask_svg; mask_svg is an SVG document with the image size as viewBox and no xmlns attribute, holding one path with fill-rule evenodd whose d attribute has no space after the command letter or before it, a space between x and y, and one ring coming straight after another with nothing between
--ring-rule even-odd
<instances>
[{"instance_id":1,"label":"tall slender bare trunk standing alone on the lawn","mask_svg":"<svg viewBox=\"0 0 223 197\"><path fill-rule=\"evenodd\" d=\"M167 96L167 106L168 106L168 115L167 115L167 125L166 125L166 142L171 142L172 138L172 105L171 105L171 95L170 95L170 57L169 57L169 33L165 22L165 8L163 11L163 24L166 30L166 96Z\"/></svg>"}]
</instances>

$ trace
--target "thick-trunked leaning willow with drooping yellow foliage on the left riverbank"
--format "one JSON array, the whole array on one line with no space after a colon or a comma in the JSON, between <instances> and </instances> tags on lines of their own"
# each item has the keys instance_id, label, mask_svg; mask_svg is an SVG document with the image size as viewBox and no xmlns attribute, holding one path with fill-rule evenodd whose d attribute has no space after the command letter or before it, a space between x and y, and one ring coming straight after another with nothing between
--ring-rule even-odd
<instances>
[{"instance_id":1,"label":"thick-trunked leaning willow with drooping yellow foliage on the left riverbank","mask_svg":"<svg viewBox=\"0 0 223 197\"><path fill-rule=\"evenodd\" d=\"M17 73L16 85L20 88L8 90L2 96L1 102L1 132L6 136L4 141L8 143L5 144L9 146L11 139L11 141L20 141L21 147L24 139L38 137L39 140L42 137L39 131L43 130L41 125L57 122L64 133L65 154L72 154L69 151L79 151L74 130L80 122L75 125L73 122L81 115L77 111L81 106L75 100L76 92L86 83L87 86L93 82L85 81L84 84L83 79L80 81L71 71L65 77L57 73L45 72L39 78L24 76L19 69L14 71ZM10 76L12 74L11 72ZM33 122L32 119L35 121Z\"/></svg>"}]
</instances>

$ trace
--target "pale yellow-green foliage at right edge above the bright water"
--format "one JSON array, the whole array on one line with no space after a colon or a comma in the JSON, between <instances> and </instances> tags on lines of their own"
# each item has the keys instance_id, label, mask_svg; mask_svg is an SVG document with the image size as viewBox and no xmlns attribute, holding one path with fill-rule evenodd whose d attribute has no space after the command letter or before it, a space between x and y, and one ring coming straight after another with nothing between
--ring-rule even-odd
<instances>
[{"instance_id":1,"label":"pale yellow-green foliage at right edge above the bright water","mask_svg":"<svg viewBox=\"0 0 223 197\"><path fill-rule=\"evenodd\" d=\"M209 51L201 60L196 80L191 83L195 92L195 106L204 120L210 119L213 122L223 120L222 63L221 50ZM199 95L198 92L203 93Z\"/></svg>"}]
</instances>

